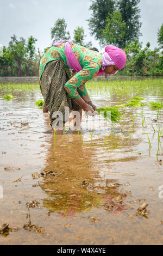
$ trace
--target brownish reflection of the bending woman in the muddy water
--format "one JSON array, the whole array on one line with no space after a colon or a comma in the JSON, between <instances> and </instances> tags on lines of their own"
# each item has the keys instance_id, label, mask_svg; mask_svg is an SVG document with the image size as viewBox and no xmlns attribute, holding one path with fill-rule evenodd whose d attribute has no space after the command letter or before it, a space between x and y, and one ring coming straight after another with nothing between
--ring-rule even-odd
<instances>
[{"instance_id":1,"label":"brownish reflection of the bending woman in the muddy water","mask_svg":"<svg viewBox=\"0 0 163 256\"><path fill-rule=\"evenodd\" d=\"M73 216L92 207L112 213L124 210L122 202L118 203L114 198L123 199L126 195L118 192L117 185L111 185L112 180L105 181L106 186L102 185L98 171L91 167L94 161L92 149L83 146L80 135L58 135L55 149L51 145L47 152L47 166L42 170L40 187L48 194L43 205L49 211Z\"/></svg>"}]
</instances>

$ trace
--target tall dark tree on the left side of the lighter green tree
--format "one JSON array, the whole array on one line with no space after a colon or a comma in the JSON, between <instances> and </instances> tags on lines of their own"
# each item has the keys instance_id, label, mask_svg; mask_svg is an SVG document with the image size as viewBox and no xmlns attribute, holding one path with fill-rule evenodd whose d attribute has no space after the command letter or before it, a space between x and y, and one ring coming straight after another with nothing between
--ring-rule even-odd
<instances>
[{"instance_id":1,"label":"tall dark tree on the left side of the lighter green tree","mask_svg":"<svg viewBox=\"0 0 163 256\"><path fill-rule=\"evenodd\" d=\"M106 26L106 18L109 14L115 11L114 0L95 0L89 8L93 13L89 22L89 29L91 35L95 36L97 40L101 40L101 33Z\"/></svg>"}]
</instances>

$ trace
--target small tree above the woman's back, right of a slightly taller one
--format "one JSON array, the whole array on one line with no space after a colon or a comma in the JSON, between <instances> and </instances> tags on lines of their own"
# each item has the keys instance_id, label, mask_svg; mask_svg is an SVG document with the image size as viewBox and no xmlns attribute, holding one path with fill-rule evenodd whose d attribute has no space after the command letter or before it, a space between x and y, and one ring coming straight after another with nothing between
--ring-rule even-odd
<instances>
[{"instance_id":1,"label":"small tree above the woman's back, right of a slightly taller one","mask_svg":"<svg viewBox=\"0 0 163 256\"><path fill-rule=\"evenodd\" d=\"M84 42L84 39L86 38L86 35L84 34L84 28L83 27L77 27L74 29L74 36L73 36L73 42L75 44L82 45L84 47L92 47L92 42L89 41L87 43Z\"/></svg>"}]
</instances>

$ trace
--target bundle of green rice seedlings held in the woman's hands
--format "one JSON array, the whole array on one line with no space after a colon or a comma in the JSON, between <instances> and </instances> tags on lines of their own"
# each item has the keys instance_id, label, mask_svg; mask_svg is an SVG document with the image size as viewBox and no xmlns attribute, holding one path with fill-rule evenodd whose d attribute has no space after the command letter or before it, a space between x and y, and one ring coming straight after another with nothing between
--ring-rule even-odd
<instances>
[{"instance_id":1,"label":"bundle of green rice seedlings held in the woman's hands","mask_svg":"<svg viewBox=\"0 0 163 256\"><path fill-rule=\"evenodd\" d=\"M113 124L120 123L122 114L118 107L101 107L97 108L97 112Z\"/></svg>"}]
</instances>

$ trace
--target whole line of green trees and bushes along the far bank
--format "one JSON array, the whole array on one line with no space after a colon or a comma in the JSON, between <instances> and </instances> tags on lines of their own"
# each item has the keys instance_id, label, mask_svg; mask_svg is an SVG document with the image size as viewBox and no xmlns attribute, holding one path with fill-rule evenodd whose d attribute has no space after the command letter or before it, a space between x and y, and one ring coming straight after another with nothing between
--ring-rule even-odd
<instances>
[{"instance_id":1,"label":"whole line of green trees and bushes along the far bank","mask_svg":"<svg viewBox=\"0 0 163 256\"><path fill-rule=\"evenodd\" d=\"M95 36L101 47L115 45L127 53L127 65L121 75L163 75L163 23L158 31L158 47L150 50L148 42L145 48L139 41L141 36L140 0L94 0L91 2L91 17L87 20L90 34ZM65 19L58 19L51 28L52 44L61 39L73 40L75 44L92 47L86 42L84 28L77 26L73 38L67 31ZM43 53L36 51L37 39L17 39L14 34L8 47L0 51L0 76L37 76L39 62Z\"/></svg>"}]
</instances>

